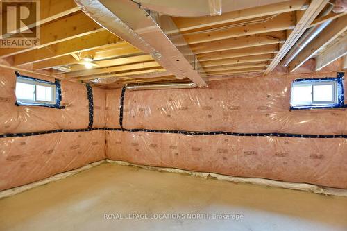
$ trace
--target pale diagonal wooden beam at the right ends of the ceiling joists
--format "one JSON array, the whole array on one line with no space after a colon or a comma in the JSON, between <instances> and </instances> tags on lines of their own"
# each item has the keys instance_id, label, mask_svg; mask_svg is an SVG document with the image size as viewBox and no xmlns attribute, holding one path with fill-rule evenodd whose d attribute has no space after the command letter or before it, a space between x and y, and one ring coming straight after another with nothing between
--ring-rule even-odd
<instances>
[{"instance_id":1,"label":"pale diagonal wooden beam at the right ends of the ceiling joists","mask_svg":"<svg viewBox=\"0 0 347 231\"><path fill-rule=\"evenodd\" d=\"M312 0L310 6L305 10L303 15L291 31L285 43L281 46L280 51L276 54L273 61L270 63L269 67L265 71L265 75L269 74L275 67L280 63L283 57L288 53L292 46L299 40L301 35L306 31L307 27L313 22L319 12L325 7L329 0Z\"/></svg>"}]
</instances>

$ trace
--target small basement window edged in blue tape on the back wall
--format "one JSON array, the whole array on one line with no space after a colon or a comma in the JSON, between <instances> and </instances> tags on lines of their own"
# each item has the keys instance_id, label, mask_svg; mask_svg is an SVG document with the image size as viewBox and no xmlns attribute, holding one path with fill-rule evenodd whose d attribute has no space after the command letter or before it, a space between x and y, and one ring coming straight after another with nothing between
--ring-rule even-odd
<instances>
[{"instance_id":1,"label":"small basement window edged in blue tape on the back wall","mask_svg":"<svg viewBox=\"0 0 347 231\"><path fill-rule=\"evenodd\" d=\"M298 79L291 85L291 109L341 108L342 78Z\"/></svg>"}]
</instances>

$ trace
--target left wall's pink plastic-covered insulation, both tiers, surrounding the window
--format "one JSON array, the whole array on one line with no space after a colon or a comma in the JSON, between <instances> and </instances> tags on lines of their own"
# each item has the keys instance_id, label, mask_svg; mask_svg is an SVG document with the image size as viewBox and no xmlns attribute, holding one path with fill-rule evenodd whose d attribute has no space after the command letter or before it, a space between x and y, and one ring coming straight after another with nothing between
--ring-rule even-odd
<instances>
[{"instance_id":1,"label":"left wall's pink plastic-covered insulation, both tiers, surrounding the window","mask_svg":"<svg viewBox=\"0 0 347 231\"><path fill-rule=\"evenodd\" d=\"M15 105L15 84L15 72L1 68L0 190L105 159L105 131L94 130L105 126L103 89L92 88L90 113L86 85L62 80L65 108L57 109Z\"/></svg>"}]
</instances>

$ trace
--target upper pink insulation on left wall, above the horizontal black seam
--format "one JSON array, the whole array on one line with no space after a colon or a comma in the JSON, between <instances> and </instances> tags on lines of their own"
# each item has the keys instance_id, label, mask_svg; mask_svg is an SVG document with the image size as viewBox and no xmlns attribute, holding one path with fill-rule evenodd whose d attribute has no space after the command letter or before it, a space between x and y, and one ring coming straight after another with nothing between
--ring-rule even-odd
<instances>
[{"instance_id":1,"label":"upper pink insulation on left wall, above the horizontal black seam","mask_svg":"<svg viewBox=\"0 0 347 231\"><path fill-rule=\"evenodd\" d=\"M42 76L33 76L42 79ZM43 78L44 79L44 78ZM45 79L47 80L47 79ZM54 81L53 78L48 79ZM0 69L0 134L80 129L88 126L88 99L85 85L61 81L64 109L16 106L16 76L11 69ZM105 125L105 92L94 89L94 123Z\"/></svg>"}]
</instances>

